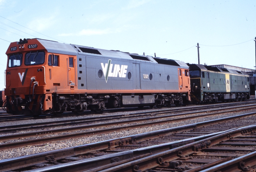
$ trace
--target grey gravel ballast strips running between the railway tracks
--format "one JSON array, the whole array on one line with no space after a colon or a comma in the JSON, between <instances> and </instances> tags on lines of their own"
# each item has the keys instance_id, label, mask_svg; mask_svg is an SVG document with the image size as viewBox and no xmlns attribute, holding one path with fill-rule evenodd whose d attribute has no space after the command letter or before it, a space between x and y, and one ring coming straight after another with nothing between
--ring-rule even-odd
<instances>
[{"instance_id":1,"label":"grey gravel ballast strips running between the railway tracks","mask_svg":"<svg viewBox=\"0 0 256 172\"><path fill-rule=\"evenodd\" d=\"M193 105L193 106L189 106L189 107L193 108L193 107L199 107L199 106ZM179 107L179 109L182 109L182 108L183 107ZM165 109L165 108L162 108L162 109ZM168 108L168 109L170 109L170 108ZM177 108L172 107L171 109L177 109ZM155 109L155 110L158 111L159 109ZM136 112L140 112L140 111L143 111L143 110L139 110L139 111L135 111L135 112L115 112L115 113L111 113L111 114L113 114L113 115L120 114L120 113L121 114L129 114L129 113L136 113ZM147 111L152 111L152 109L147 110ZM246 111L246 112L244 111L244 112L238 112L238 113L232 113L232 114L224 114L224 115L218 115L218 116L213 116L213 117L206 117L206 118L192 119L192 120L186 120L186 121L175 122L175 123L168 123L168 124L164 124L164 125L152 125L152 126L147 126L147 127L143 127L143 128L131 129L131 130L127 130L127 131L50 142L50 143L47 143L46 145L36 145L36 146L20 147L20 148L10 149L10 150L0 150L0 160L29 155L29 154L41 153L41 152L46 152L46 151L51 151L51 150L57 150L57 149L66 148L66 147L74 147L74 146L79 146L79 145L83 145L83 144L134 135L134 134L138 134L138 133L146 133L146 132L150 132L150 131L156 131L156 130L160 130L160 129L166 129L166 128L171 128L171 127L181 126L181 125L188 125L188 124L198 123L198 122L202 122L202 121L208 121L208 120L224 118L224 117L234 116L234 115L243 114L243 113L250 113L250 112L255 112L255 111ZM0 124L0 125L2 125L2 126L19 125L19 124L26 124L26 123L39 123L39 122L56 121L56 120L67 120L67 119L74 119L74 118L88 118L88 117L96 117L96 116L102 116L102 115L106 115L106 114L78 116L78 117L63 117L63 118L48 118L48 119L13 121L13 122L8 122L8 123L6 122L6 123ZM256 117L245 118L244 120L248 120L248 121L250 121L250 123L252 123L252 121L254 121L256 123ZM70 126L67 126L67 127L70 127ZM93 130L93 129L91 129L91 130ZM81 132L81 131L77 131L77 132ZM69 133L71 133L71 132L69 132ZM20 139L20 140L22 140L22 139Z\"/></svg>"}]
</instances>

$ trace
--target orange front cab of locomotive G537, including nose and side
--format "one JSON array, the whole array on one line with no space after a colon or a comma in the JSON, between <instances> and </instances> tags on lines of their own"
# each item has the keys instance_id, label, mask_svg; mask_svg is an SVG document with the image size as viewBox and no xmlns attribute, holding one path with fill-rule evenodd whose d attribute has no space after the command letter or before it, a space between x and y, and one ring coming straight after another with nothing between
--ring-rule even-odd
<instances>
[{"instance_id":1,"label":"orange front cab of locomotive G537, including nose and side","mask_svg":"<svg viewBox=\"0 0 256 172\"><path fill-rule=\"evenodd\" d=\"M47 41L49 43L44 46L40 41L44 40L20 39L11 43L6 52L8 62L4 93L7 113L50 112L53 108L52 97L55 95L57 98L60 88L72 92L70 90L77 87L76 56L54 53L48 48L54 41Z\"/></svg>"}]
</instances>

